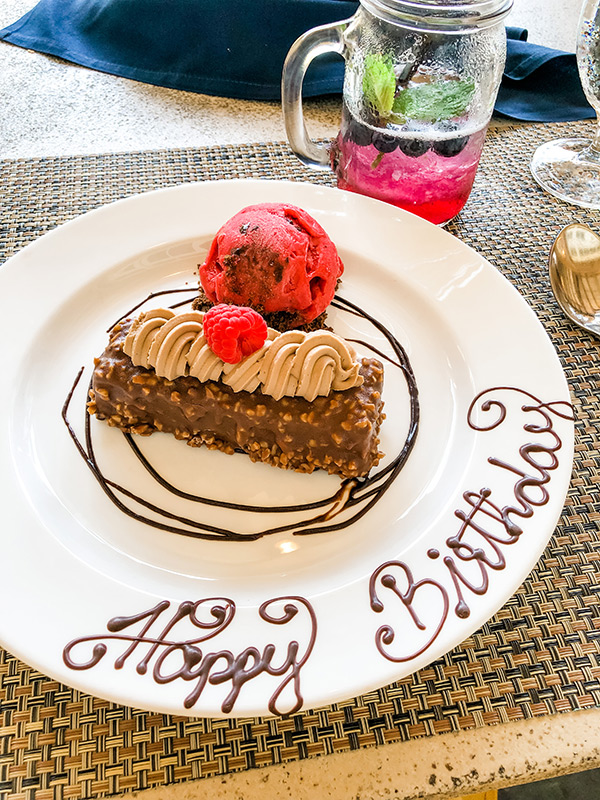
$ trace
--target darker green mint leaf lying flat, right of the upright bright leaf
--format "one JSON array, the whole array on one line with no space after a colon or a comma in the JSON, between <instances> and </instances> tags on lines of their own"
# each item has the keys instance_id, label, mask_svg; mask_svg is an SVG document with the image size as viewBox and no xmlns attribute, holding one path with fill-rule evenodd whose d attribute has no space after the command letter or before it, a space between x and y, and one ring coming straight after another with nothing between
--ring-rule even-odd
<instances>
[{"instance_id":1,"label":"darker green mint leaf lying flat, right of the upright bright leaf","mask_svg":"<svg viewBox=\"0 0 600 800\"><path fill-rule=\"evenodd\" d=\"M437 122L460 117L475 93L472 78L413 84L403 89L392 104L392 112L404 119Z\"/></svg>"}]
</instances>

